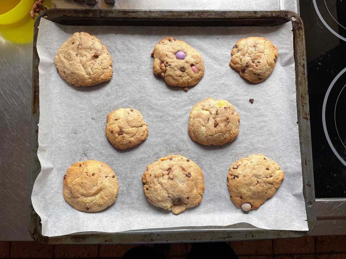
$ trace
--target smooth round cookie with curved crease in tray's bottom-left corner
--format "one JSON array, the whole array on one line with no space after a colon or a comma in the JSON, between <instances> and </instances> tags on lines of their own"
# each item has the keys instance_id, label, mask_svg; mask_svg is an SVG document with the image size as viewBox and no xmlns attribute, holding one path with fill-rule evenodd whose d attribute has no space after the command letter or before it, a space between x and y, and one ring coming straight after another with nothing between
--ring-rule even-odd
<instances>
[{"instance_id":1,"label":"smooth round cookie with curved crease in tray's bottom-left corner","mask_svg":"<svg viewBox=\"0 0 346 259\"><path fill-rule=\"evenodd\" d=\"M77 210L104 210L115 202L117 194L117 178L112 169L102 162L77 162L66 170L63 195L67 203Z\"/></svg>"}]
</instances>

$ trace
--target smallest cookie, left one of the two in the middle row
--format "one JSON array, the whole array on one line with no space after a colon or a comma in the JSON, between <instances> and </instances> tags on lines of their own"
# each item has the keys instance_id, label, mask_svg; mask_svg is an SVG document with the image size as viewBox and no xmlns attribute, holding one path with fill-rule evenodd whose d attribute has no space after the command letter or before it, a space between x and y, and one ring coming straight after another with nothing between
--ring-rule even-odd
<instances>
[{"instance_id":1,"label":"smallest cookie, left one of the two in the middle row","mask_svg":"<svg viewBox=\"0 0 346 259\"><path fill-rule=\"evenodd\" d=\"M107 116L106 136L119 149L138 146L148 136L140 111L119 108Z\"/></svg>"}]
</instances>

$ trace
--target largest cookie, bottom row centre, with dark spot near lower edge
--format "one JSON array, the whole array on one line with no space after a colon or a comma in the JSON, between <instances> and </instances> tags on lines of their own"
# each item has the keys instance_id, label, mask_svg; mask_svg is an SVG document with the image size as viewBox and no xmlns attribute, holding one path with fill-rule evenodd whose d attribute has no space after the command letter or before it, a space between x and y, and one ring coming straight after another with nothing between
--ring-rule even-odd
<instances>
[{"instance_id":1,"label":"largest cookie, bottom row centre, with dark spot near lower edge","mask_svg":"<svg viewBox=\"0 0 346 259\"><path fill-rule=\"evenodd\" d=\"M148 201L174 214L202 201L204 180L197 164L181 155L169 155L147 166L142 176Z\"/></svg>"}]
</instances>

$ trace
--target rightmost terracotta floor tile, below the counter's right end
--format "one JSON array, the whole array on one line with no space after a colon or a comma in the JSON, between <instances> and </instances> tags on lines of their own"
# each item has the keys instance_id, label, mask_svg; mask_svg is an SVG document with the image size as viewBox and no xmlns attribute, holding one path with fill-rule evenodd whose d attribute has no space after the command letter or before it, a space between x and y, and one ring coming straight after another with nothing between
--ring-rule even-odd
<instances>
[{"instance_id":1,"label":"rightmost terracotta floor tile, below the counter's right end","mask_svg":"<svg viewBox=\"0 0 346 259\"><path fill-rule=\"evenodd\" d=\"M346 252L346 236L316 236L318 253Z\"/></svg>"}]
</instances>

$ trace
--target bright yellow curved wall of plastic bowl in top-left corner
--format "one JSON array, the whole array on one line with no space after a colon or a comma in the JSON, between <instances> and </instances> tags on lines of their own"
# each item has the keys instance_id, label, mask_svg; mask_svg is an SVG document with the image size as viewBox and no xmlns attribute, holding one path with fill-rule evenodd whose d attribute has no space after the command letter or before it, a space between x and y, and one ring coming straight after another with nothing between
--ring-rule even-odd
<instances>
[{"instance_id":1,"label":"bright yellow curved wall of plastic bowl in top-left corner","mask_svg":"<svg viewBox=\"0 0 346 259\"><path fill-rule=\"evenodd\" d=\"M34 0L21 0L13 9L0 15L0 24L12 24L23 19L34 5Z\"/></svg>"}]
</instances>

